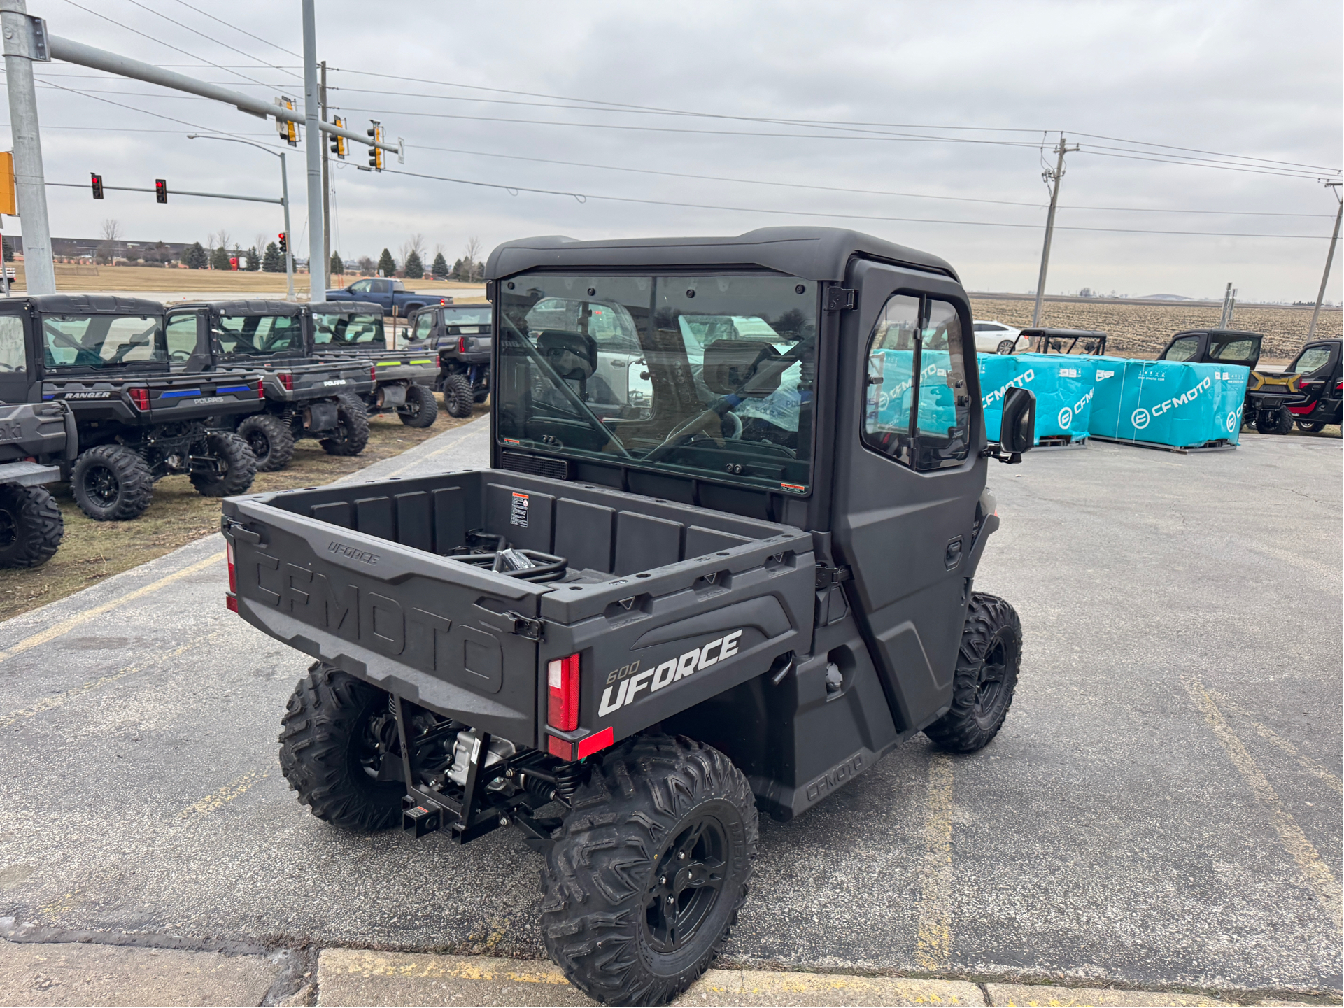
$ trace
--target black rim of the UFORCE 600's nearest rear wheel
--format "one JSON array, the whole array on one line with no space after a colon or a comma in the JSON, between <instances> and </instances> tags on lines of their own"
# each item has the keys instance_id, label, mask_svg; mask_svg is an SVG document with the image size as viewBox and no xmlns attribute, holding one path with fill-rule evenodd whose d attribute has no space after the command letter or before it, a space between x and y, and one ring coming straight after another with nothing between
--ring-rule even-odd
<instances>
[{"instance_id":1,"label":"black rim of the UFORCE 600's nearest rear wheel","mask_svg":"<svg viewBox=\"0 0 1344 1008\"><path fill-rule=\"evenodd\" d=\"M727 832L715 816L683 825L653 864L644 922L655 950L669 953L695 941L723 894Z\"/></svg>"}]
</instances>

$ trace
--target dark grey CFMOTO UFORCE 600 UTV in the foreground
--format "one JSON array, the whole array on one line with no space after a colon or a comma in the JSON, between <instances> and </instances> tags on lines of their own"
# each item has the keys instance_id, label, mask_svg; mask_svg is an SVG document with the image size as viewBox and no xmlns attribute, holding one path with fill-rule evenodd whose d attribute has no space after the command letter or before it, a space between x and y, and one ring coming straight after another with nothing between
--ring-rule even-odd
<instances>
[{"instance_id":1,"label":"dark grey CFMOTO UFORCE 600 UTV in the foreground","mask_svg":"<svg viewBox=\"0 0 1344 1008\"><path fill-rule=\"evenodd\" d=\"M1000 730L1021 629L973 578L1035 399L986 445L957 274L852 231L536 238L487 276L492 468L224 501L227 603L316 659L280 737L313 814L519 829L566 976L664 1004L758 809Z\"/></svg>"}]
</instances>

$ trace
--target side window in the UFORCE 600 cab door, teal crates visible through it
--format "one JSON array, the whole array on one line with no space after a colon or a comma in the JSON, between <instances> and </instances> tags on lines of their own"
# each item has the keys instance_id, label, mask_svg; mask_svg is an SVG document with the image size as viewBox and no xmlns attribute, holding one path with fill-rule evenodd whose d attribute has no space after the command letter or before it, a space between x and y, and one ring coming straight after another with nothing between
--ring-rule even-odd
<instances>
[{"instance_id":1,"label":"side window in the UFORCE 600 cab door, teal crates visible through it","mask_svg":"<svg viewBox=\"0 0 1344 1008\"><path fill-rule=\"evenodd\" d=\"M919 470L966 460L970 394L953 304L895 294L883 305L868 339L863 439Z\"/></svg>"}]
</instances>

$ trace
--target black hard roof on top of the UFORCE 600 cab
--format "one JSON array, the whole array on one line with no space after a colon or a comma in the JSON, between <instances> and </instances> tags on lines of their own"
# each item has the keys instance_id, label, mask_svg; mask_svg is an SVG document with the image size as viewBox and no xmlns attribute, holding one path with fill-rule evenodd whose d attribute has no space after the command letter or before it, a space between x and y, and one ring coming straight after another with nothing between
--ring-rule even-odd
<instances>
[{"instance_id":1,"label":"black hard roof on top of the UFORCE 600 cab","mask_svg":"<svg viewBox=\"0 0 1344 1008\"><path fill-rule=\"evenodd\" d=\"M563 235L520 238L491 253L485 278L499 280L539 267L657 269L762 266L790 277L841 281L849 259L862 255L958 280L937 255L843 227L761 227L723 238L617 238L581 242Z\"/></svg>"}]
</instances>

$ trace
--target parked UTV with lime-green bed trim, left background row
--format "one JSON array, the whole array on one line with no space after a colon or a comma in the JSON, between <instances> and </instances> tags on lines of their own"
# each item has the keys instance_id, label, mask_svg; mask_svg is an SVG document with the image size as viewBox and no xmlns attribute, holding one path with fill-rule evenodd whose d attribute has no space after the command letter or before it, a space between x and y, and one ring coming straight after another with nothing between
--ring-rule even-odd
<instances>
[{"instance_id":1,"label":"parked UTV with lime-green bed trim, left background row","mask_svg":"<svg viewBox=\"0 0 1344 1008\"><path fill-rule=\"evenodd\" d=\"M395 413L407 427L433 427L438 419L434 380L438 362L426 351L388 349L383 309L360 301L309 305L313 351L321 360L356 358L374 368L374 390L364 395L370 414Z\"/></svg>"}]
</instances>

